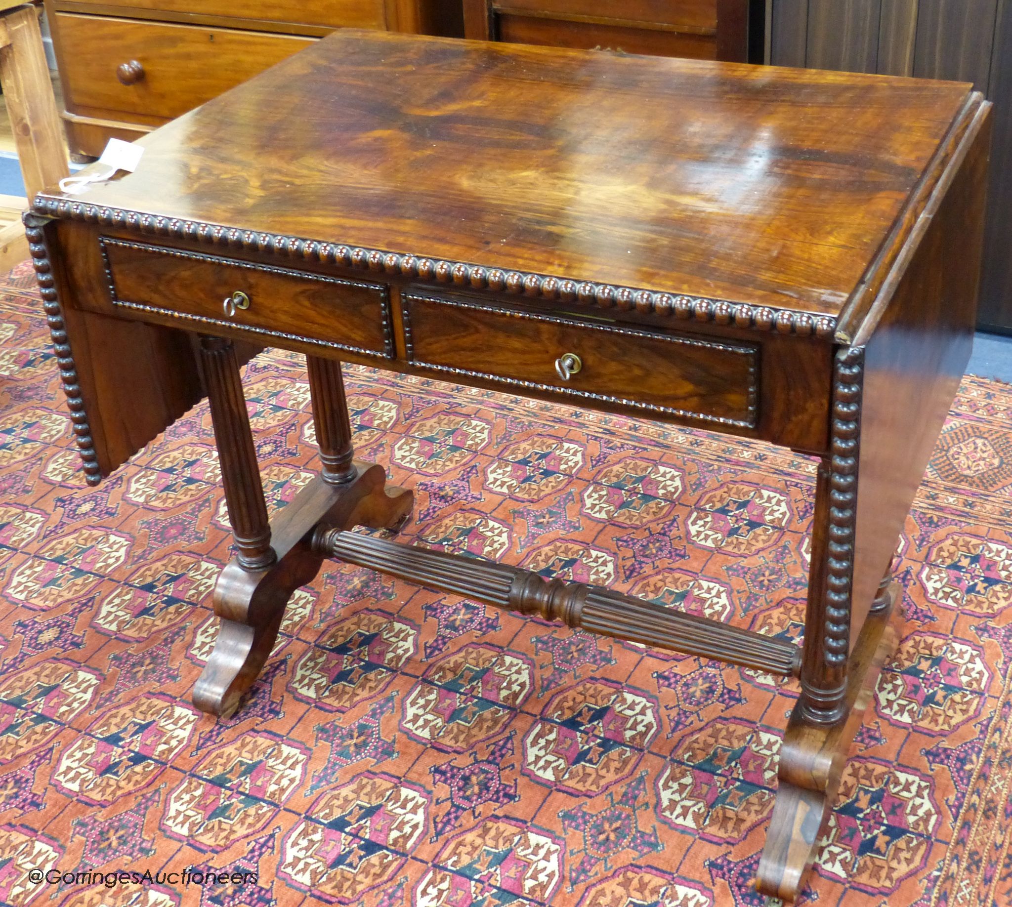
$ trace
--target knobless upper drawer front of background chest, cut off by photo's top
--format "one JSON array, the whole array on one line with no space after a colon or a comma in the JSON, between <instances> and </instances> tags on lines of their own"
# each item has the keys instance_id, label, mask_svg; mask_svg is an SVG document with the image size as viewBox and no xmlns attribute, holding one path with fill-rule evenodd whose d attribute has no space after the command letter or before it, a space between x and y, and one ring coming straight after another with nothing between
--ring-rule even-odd
<instances>
[{"instance_id":1,"label":"knobless upper drawer front of background chest, cut off by photo's top","mask_svg":"<svg viewBox=\"0 0 1012 907\"><path fill-rule=\"evenodd\" d=\"M66 4L67 0L63 0ZM329 28L385 28L387 26L383 0L70 0L83 11L89 7L121 9L152 13L193 16L229 16L240 19L260 19L266 22L301 23Z\"/></svg>"}]
</instances>

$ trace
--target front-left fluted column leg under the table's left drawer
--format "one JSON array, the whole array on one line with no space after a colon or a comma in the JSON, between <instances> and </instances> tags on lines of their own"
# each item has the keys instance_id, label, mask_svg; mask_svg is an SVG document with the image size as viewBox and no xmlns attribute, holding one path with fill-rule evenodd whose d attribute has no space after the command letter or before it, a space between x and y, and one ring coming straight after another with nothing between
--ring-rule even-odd
<instances>
[{"instance_id":1,"label":"front-left fluted column leg under the table's left drawer","mask_svg":"<svg viewBox=\"0 0 1012 907\"><path fill-rule=\"evenodd\" d=\"M201 337L200 359L236 557L247 570L263 570L273 564L276 557L270 547L267 505L232 341Z\"/></svg>"}]
</instances>

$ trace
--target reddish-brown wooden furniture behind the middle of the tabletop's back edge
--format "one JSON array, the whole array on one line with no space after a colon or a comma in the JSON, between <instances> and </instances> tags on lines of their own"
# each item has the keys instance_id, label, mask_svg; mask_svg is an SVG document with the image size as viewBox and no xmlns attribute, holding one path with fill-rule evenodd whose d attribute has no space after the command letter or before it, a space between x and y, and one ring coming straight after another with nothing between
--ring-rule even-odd
<instances>
[{"instance_id":1,"label":"reddish-brown wooden furniture behind the middle of the tabletop's back edge","mask_svg":"<svg viewBox=\"0 0 1012 907\"><path fill-rule=\"evenodd\" d=\"M762 27L751 11L753 0L463 0L468 37L739 63Z\"/></svg>"}]
</instances>

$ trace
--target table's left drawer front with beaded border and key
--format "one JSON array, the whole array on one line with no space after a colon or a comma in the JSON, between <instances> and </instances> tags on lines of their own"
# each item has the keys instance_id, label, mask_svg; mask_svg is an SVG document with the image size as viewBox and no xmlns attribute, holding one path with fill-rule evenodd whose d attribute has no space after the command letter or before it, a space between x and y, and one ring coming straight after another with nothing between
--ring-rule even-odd
<instances>
[{"instance_id":1,"label":"table's left drawer front with beaded border and key","mask_svg":"<svg viewBox=\"0 0 1012 907\"><path fill-rule=\"evenodd\" d=\"M240 328L266 344L297 340L394 358L390 297L380 283L307 274L128 240L100 240L117 314L171 318L192 331ZM237 298L240 308L226 301Z\"/></svg>"}]
</instances>

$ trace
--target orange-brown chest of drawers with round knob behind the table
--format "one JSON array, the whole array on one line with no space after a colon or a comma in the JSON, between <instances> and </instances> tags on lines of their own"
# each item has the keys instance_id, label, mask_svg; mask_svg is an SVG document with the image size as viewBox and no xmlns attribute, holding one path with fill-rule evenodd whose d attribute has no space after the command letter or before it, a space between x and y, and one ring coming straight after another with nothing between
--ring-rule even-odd
<instances>
[{"instance_id":1,"label":"orange-brown chest of drawers with round knob behind the table","mask_svg":"<svg viewBox=\"0 0 1012 907\"><path fill-rule=\"evenodd\" d=\"M71 152L96 157L335 28L462 33L460 0L46 0Z\"/></svg>"}]
</instances>

